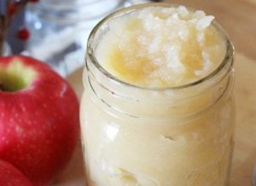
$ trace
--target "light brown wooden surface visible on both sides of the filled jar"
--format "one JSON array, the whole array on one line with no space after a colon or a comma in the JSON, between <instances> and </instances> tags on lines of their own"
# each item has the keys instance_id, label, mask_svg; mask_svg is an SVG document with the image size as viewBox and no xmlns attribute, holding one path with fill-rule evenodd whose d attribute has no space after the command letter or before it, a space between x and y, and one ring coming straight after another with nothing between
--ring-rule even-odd
<instances>
[{"instance_id":1,"label":"light brown wooden surface visible on both sides of the filled jar","mask_svg":"<svg viewBox=\"0 0 256 186\"><path fill-rule=\"evenodd\" d=\"M256 164L256 0L166 0L214 15L236 47L236 145L230 186L251 186ZM67 80L82 94L82 69ZM73 159L55 186L84 186L82 153ZM177 185L175 185L177 186Z\"/></svg>"}]
</instances>

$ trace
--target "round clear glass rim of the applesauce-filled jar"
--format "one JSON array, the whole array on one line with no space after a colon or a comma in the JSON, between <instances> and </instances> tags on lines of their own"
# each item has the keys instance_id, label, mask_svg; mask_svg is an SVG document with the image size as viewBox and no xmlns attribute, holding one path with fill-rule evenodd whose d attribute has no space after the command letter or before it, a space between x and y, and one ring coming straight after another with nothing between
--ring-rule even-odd
<instances>
[{"instance_id":1,"label":"round clear glass rim of the applesauce-filled jar","mask_svg":"<svg viewBox=\"0 0 256 186\"><path fill-rule=\"evenodd\" d=\"M231 67L233 65L233 55L234 55L235 49L234 49L233 44L230 41L230 37L229 37L228 33L224 30L224 27L221 26L218 23L218 21L216 21L216 20L212 21L212 26L214 26L215 28L218 29L218 32L222 35L222 37L226 41L226 52L225 52L225 55L224 55L224 59L220 62L218 67L215 70L212 71L212 73L209 73L207 76L205 76L203 78L199 78L198 80L195 80L194 82L191 82L189 84L181 84L181 85L177 85L177 86L166 86L166 87L143 87L143 86L139 86L139 85L136 85L136 84L127 83L127 82L115 77L112 73L109 73L104 67L102 67L102 65L99 63L99 61L97 61L96 56L95 56L95 52L94 52L95 49L93 47L94 38L96 36L96 33L100 30L100 28L105 23L108 22L108 20L110 20L110 19L112 19L116 16L125 14L125 13L130 13L132 11L136 11L137 9L150 8L150 7L172 8L172 7L177 7L177 6L183 6L183 5L182 4L174 4L174 3L143 3L143 4L133 5L133 6L128 7L128 8L116 10L113 13L111 13L110 15L106 16L90 32L90 36L88 38L88 43L87 43L87 55L90 58L90 61L92 61L92 64L96 67L96 69L98 69L107 78L110 78L111 80L113 80L115 83L123 84L123 85L129 86L131 88L137 88L139 90L151 90L151 91L181 90L181 89L193 87L197 84L204 83L207 80L215 77L218 73L221 72L222 69L224 69L224 67L226 67L228 65L230 65L230 69L231 69ZM187 9L195 10L195 9L190 9L190 8L187 8ZM229 64L229 61L230 61L230 64ZM228 71L230 71L230 69Z\"/></svg>"}]
</instances>

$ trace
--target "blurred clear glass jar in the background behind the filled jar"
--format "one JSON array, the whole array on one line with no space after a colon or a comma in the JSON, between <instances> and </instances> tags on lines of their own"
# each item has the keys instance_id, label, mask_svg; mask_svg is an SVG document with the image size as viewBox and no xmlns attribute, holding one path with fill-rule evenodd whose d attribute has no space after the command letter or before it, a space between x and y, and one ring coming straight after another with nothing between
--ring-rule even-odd
<instances>
[{"instance_id":1,"label":"blurred clear glass jar in the background behind the filled jar","mask_svg":"<svg viewBox=\"0 0 256 186\"><path fill-rule=\"evenodd\" d=\"M47 61L67 76L84 64L85 41L93 26L124 4L125 0L41 0L28 4L28 55Z\"/></svg>"}]
</instances>

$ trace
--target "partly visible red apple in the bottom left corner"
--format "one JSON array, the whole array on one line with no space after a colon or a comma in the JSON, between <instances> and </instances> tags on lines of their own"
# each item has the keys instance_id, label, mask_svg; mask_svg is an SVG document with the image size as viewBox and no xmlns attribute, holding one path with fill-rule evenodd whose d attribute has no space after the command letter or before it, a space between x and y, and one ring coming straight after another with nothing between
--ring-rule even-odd
<instances>
[{"instance_id":1,"label":"partly visible red apple in the bottom left corner","mask_svg":"<svg viewBox=\"0 0 256 186\"><path fill-rule=\"evenodd\" d=\"M32 186L21 171L3 160L0 160L0 184L2 186Z\"/></svg>"}]
</instances>

